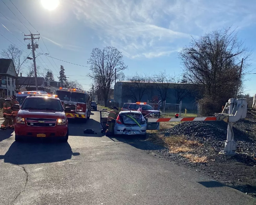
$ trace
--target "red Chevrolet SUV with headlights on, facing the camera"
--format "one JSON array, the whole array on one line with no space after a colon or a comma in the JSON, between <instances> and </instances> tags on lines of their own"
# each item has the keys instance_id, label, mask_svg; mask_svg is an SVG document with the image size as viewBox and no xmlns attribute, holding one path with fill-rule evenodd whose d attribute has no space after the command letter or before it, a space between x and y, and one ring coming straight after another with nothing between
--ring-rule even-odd
<instances>
[{"instance_id":1,"label":"red Chevrolet SUV with headlights on, facing the camera","mask_svg":"<svg viewBox=\"0 0 256 205\"><path fill-rule=\"evenodd\" d=\"M54 95L27 96L14 124L15 140L54 137L68 140L68 120L61 101Z\"/></svg>"}]
</instances>

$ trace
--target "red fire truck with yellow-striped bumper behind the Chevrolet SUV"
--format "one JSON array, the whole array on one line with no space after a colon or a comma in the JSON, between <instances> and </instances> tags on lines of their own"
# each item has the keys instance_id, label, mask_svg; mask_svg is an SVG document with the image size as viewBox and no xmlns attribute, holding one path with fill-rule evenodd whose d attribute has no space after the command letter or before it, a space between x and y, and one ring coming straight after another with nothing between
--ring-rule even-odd
<instances>
[{"instance_id":1,"label":"red fire truck with yellow-striped bumper behind the Chevrolet SUV","mask_svg":"<svg viewBox=\"0 0 256 205\"><path fill-rule=\"evenodd\" d=\"M60 87L54 91L60 99L67 118L89 119L91 115L90 93L75 88Z\"/></svg>"}]
</instances>

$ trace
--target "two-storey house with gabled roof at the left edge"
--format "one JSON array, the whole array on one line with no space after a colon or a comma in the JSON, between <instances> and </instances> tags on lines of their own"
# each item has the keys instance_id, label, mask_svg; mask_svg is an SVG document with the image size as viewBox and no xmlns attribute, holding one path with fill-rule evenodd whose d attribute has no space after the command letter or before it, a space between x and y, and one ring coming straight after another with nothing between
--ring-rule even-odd
<instances>
[{"instance_id":1,"label":"two-storey house with gabled roof at the left edge","mask_svg":"<svg viewBox=\"0 0 256 205\"><path fill-rule=\"evenodd\" d=\"M0 58L0 98L16 94L17 74L11 59Z\"/></svg>"}]
</instances>

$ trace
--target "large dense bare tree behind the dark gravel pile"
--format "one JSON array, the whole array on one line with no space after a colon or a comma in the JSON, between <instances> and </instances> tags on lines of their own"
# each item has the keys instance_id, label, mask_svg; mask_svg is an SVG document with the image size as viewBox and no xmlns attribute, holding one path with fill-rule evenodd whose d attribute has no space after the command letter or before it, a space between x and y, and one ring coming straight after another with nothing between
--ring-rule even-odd
<instances>
[{"instance_id":1,"label":"large dense bare tree behind the dark gravel pile","mask_svg":"<svg viewBox=\"0 0 256 205\"><path fill-rule=\"evenodd\" d=\"M242 74L248 66L251 51L238 40L236 31L230 28L213 31L198 40L192 39L189 47L179 53L184 66L184 78L194 84L205 99L205 114L235 97L240 74L241 59L244 58Z\"/></svg>"}]
</instances>

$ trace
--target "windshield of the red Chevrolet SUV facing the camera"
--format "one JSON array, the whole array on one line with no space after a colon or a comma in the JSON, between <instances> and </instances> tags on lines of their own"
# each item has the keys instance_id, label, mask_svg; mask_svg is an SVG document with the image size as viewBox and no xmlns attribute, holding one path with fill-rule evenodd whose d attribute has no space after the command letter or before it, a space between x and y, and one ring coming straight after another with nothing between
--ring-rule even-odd
<instances>
[{"instance_id":1,"label":"windshield of the red Chevrolet SUV facing the camera","mask_svg":"<svg viewBox=\"0 0 256 205\"><path fill-rule=\"evenodd\" d=\"M63 111L63 107L59 99L51 97L28 97L22 104L21 109Z\"/></svg>"}]
</instances>

